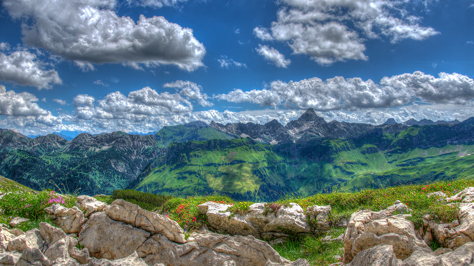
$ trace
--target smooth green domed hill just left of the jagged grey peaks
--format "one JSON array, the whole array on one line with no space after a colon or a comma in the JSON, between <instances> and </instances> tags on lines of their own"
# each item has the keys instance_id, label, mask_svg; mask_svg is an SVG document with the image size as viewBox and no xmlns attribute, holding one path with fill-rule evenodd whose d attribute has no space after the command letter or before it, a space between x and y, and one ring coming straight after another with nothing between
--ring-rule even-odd
<instances>
[{"instance_id":1,"label":"smooth green domed hill just left of the jagged grey peaks","mask_svg":"<svg viewBox=\"0 0 474 266\"><path fill-rule=\"evenodd\" d=\"M188 124L179 124L174 126L164 126L155 134L155 139L163 147L168 147L171 142L189 142L204 140L229 140L235 137L218 131L202 121L195 121Z\"/></svg>"}]
</instances>

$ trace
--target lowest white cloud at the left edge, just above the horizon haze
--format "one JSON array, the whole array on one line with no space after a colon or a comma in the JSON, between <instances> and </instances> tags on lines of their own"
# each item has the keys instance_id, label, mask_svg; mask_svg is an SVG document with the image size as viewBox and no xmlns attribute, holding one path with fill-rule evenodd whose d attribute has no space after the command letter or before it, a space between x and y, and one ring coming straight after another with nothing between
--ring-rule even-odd
<instances>
[{"instance_id":1,"label":"lowest white cloud at the left edge, just above the horizon haze","mask_svg":"<svg viewBox=\"0 0 474 266\"><path fill-rule=\"evenodd\" d=\"M48 111L39 107L35 95L28 92L16 93L13 90L6 91L5 86L0 85L0 115L13 116L40 116L48 115Z\"/></svg>"}]
</instances>

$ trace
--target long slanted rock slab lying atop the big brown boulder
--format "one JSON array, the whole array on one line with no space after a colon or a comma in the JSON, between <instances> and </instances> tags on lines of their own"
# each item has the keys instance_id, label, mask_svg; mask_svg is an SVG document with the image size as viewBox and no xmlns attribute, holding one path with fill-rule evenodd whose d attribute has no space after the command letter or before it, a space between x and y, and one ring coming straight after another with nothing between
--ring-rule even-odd
<instances>
[{"instance_id":1,"label":"long slanted rock slab lying atop the big brown boulder","mask_svg":"<svg viewBox=\"0 0 474 266\"><path fill-rule=\"evenodd\" d=\"M125 222L151 234L159 233L165 235L171 241L186 242L184 231L176 221L165 215L144 210L137 204L117 199L110 204L105 213L115 221Z\"/></svg>"}]
</instances>

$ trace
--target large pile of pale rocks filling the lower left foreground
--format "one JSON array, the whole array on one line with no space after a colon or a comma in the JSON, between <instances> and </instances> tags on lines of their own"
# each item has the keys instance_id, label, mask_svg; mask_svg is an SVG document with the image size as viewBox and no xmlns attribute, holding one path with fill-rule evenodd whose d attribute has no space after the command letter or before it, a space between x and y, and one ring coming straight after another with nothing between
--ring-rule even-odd
<instances>
[{"instance_id":1,"label":"large pile of pale rocks filling the lower left foreground","mask_svg":"<svg viewBox=\"0 0 474 266\"><path fill-rule=\"evenodd\" d=\"M224 261L238 266L296 265L253 236L203 229L185 239L177 222L136 204L118 199L104 206L81 199L79 207L46 208L60 228L45 222L27 232L0 226L0 265L221 266Z\"/></svg>"}]
</instances>

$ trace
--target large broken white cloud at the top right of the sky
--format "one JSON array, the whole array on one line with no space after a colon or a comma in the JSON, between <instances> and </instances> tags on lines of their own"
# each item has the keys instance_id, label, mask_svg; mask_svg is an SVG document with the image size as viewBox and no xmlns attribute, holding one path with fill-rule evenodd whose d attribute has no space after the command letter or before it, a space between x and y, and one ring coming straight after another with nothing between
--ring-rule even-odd
<instances>
[{"instance_id":1,"label":"large broken white cloud at the top right of the sky","mask_svg":"<svg viewBox=\"0 0 474 266\"><path fill-rule=\"evenodd\" d=\"M264 41L287 43L295 54L307 54L320 65L346 59L367 60L364 38L423 40L438 32L419 25L421 17L410 16L407 1L391 0L281 0L277 21L269 28L255 27Z\"/></svg>"}]
</instances>

